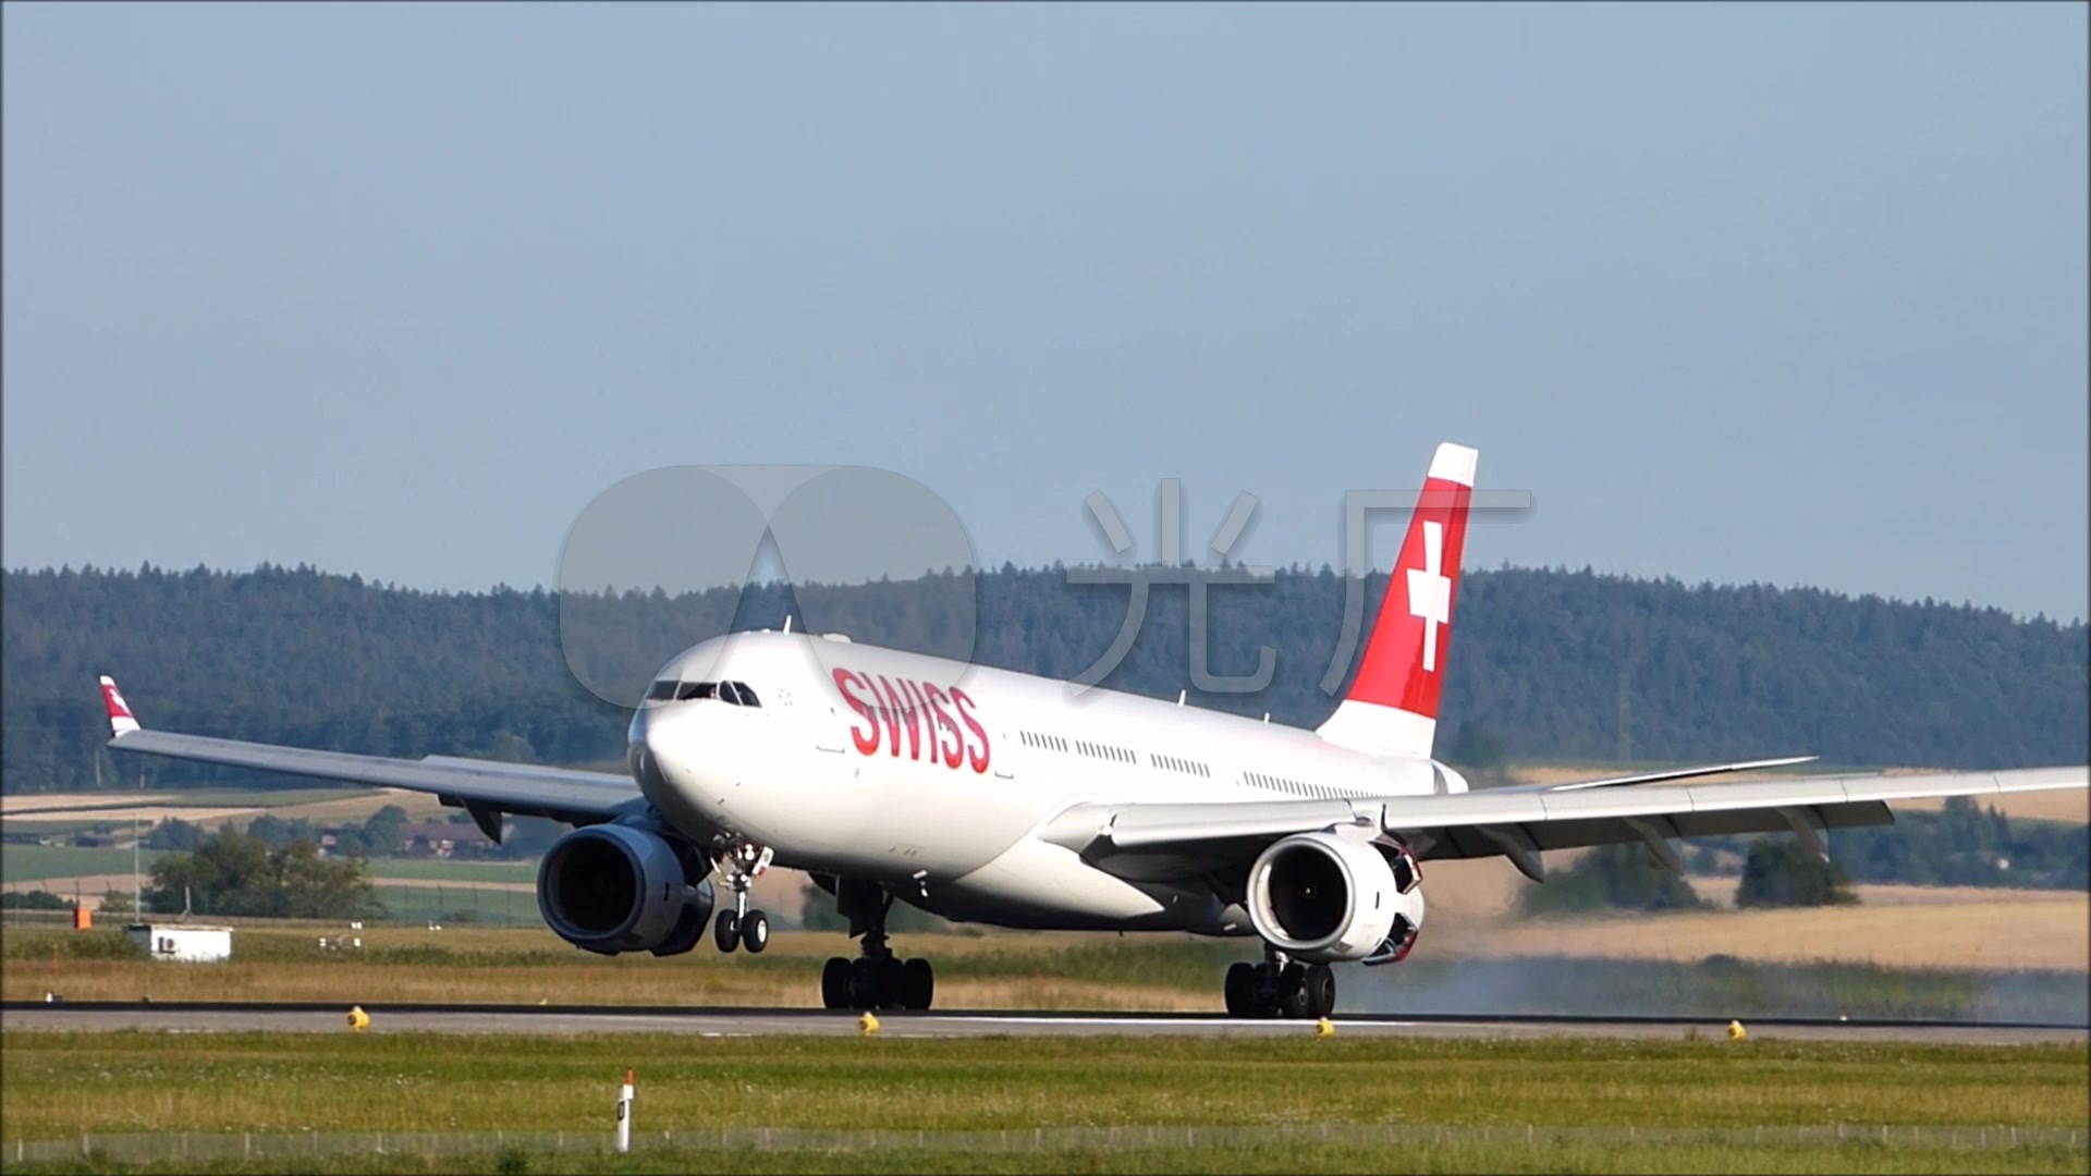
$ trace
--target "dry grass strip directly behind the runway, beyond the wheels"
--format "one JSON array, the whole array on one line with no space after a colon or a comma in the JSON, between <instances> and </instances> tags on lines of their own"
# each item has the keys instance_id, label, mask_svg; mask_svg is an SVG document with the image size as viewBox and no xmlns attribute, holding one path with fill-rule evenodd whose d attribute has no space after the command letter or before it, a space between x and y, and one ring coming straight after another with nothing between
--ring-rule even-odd
<instances>
[{"instance_id":1,"label":"dry grass strip directly behind the runway, beyond the wheels","mask_svg":"<svg viewBox=\"0 0 2091 1176\"><path fill-rule=\"evenodd\" d=\"M326 950L341 927L243 927L217 965L146 960L117 931L8 931L0 996L40 1000L322 1000L489 1004L818 1007L820 960L841 935L780 931L759 956L592 956L550 931L364 927L364 948ZM937 963L939 1009L1219 1011L1219 977L1246 944L1186 935L901 935ZM1345 1013L1662 1013L1683 1017L1980 1017L2085 1023L2085 973L1765 965L1738 958L1514 960L1411 956L1342 969Z\"/></svg>"}]
</instances>

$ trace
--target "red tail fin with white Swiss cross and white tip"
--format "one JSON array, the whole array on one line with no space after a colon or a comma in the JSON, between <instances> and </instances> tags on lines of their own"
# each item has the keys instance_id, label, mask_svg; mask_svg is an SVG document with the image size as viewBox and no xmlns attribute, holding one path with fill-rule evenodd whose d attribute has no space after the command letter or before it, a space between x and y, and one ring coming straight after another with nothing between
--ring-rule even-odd
<instances>
[{"instance_id":1,"label":"red tail fin with white Swiss cross and white tip","mask_svg":"<svg viewBox=\"0 0 2091 1176\"><path fill-rule=\"evenodd\" d=\"M1478 458L1476 450L1447 442L1430 460L1365 657L1351 693L1322 724L1324 739L1401 755L1430 753Z\"/></svg>"}]
</instances>

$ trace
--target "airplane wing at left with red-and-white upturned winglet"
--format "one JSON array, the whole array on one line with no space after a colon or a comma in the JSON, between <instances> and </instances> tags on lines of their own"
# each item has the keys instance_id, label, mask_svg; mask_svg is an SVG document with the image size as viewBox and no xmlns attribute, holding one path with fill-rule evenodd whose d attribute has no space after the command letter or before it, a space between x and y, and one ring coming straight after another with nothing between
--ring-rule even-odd
<instances>
[{"instance_id":1,"label":"airplane wing at left with red-and-white upturned winglet","mask_svg":"<svg viewBox=\"0 0 2091 1176\"><path fill-rule=\"evenodd\" d=\"M456 755L393 760L387 755L309 751L303 747L278 747L274 743L144 730L111 678L102 678L102 705L109 709L109 747L117 751L435 793L445 806L462 806L470 812L479 829L496 841L502 839L500 814L504 812L548 816L569 824L596 824L646 806L646 797L640 795L638 785L629 776L611 772L537 768L498 760L462 760Z\"/></svg>"}]
</instances>

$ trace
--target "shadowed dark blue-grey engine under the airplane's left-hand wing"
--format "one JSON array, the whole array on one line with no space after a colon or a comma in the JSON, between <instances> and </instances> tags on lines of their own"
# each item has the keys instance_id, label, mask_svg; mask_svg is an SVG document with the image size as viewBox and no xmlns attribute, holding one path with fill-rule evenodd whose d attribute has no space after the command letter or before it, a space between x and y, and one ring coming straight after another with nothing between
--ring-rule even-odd
<instances>
[{"instance_id":1,"label":"shadowed dark blue-grey engine under the airplane's left-hand wing","mask_svg":"<svg viewBox=\"0 0 2091 1176\"><path fill-rule=\"evenodd\" d=\"M554 935L590 952L682 954L711 921L711 881L700 868L692 852L659 833L588 824L554 841L537 864L537 910Z\"/></svg>"}]
</instances>

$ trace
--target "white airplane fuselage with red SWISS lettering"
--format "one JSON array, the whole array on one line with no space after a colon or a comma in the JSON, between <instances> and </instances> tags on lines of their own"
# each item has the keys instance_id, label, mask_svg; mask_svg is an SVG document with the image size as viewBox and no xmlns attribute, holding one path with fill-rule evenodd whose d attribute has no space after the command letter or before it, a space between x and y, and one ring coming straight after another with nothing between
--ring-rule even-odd
<instances>
[{"instance_id":1,"label":"white airplane fuselage with red SWISS lettering","mask_svg":"<svg viewBox=\"0 0 2091 1176\"><path fill-rule=\"evenodd\" d=\"M1006 927L1253 933L1204 889L1123 881L1037 837L1077 804L1466 791L1428 757L834 636L738 632L657 678L759 703L648 701L631 720L634 776L686 835Z\"/></svg>"}]
</instances>

